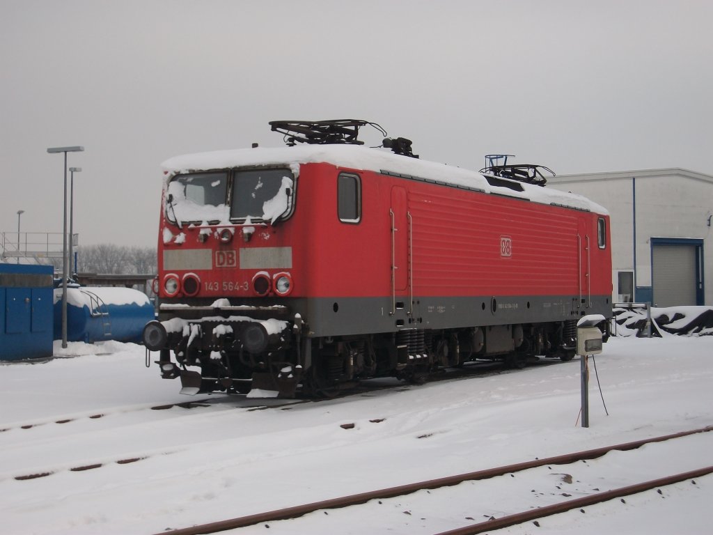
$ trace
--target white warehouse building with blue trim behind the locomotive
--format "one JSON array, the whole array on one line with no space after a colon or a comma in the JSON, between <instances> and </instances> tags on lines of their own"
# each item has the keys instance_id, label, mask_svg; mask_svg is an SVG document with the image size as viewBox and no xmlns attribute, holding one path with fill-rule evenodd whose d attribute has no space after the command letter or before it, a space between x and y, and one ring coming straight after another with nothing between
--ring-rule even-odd
<instances>
[{"instance_id":1,"label":"white warehouse building with blue trim behind the locomotive","mask_svg":"<svg viewBox=\"0 0 713 535\"><path fill-rule=\"evenodd\" d=\"M667 168L558 175L609 210L613 302L713 305L713 176Z\"/></svg>"}]
</instances>

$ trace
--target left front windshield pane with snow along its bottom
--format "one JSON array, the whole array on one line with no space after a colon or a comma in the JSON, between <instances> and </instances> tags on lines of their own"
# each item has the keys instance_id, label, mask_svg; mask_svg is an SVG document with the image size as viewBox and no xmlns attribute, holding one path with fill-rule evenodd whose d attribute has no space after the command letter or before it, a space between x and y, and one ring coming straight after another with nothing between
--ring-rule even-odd
<instances>
[{"instance_id":1,"label":"left front windshield pane with snow along its bottom","mask_svg":"<svg viewBox=\"0 0 713 535\"><path fill-rule=\"evenodd\" d=\"M223 220L226 193L225 172L178 175L168 184L166 218L177 225Z\"/></svg>"}]
</instances>

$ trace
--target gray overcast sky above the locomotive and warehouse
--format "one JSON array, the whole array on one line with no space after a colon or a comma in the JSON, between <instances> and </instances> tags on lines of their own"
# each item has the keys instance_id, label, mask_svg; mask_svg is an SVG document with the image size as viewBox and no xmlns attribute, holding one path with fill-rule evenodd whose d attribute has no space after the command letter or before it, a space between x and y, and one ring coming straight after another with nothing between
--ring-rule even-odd
<instances>
[{"instance_id":1,"label":"gray overcast sky above the locomotive and warehouse","mask_svg":"<svg viewBox=\"0 0 713 535\"><path fill-rule=\"evenodd\" d=\"M0 0L0 230L154 245L160 163L363 118L434 161L713 175L713 1ZM376 144L380 138L367 136Z\"/></svg>"}]
</instances>

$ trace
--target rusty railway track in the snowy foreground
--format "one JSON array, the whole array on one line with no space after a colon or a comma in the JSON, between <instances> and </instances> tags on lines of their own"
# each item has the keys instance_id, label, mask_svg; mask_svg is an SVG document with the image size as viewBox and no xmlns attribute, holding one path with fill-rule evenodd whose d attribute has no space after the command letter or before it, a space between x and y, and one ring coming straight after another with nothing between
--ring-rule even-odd
<instances>
[{"instance_id":1,"label":"rusty railway track in the snowy foreground","mask_svg":"<svg viewBox=\"0 0 713 535\"><path fill-rule=\"evenodd\" d=\"M250 514L248 516L240 516L233 519L211 522L209 524L201 524L182 529L174 529L173 531L167 530L163 531L163 533L169 533L170 535L212 534L220 531L249 528L249 526L254 526L256 528L258 526L264 526L265 528L278 528L277 533L279 533L279 524L275 524L275 522L286 519L297 519L299 517L303 517L305 515L309 515L317 511L323 511L325 518L329 516L332 521L334 521L334 509L343 509L350 506L359 506L362 504L368 504L369 502L373 503L374 501L381 505L384 504L386 500L394 498L403 498L404 496L418 493L419 491L426 491L426 493L430 494L432 491L439 491L441 489L446 488L452 489L454 486L459 484L472 484L473 481L483 480L493 481L498 478L505 478L506 480L508 478L513 480L518 479L520 480L521 484L522 479L525 478L520 476L522 474L527 474L529 471L533 471L533 469L547 469L551 471L553 469L552 467L556 466L558 467L558 470L576 472L577 465L579 463L586 464L589 461L600 459L601 457L604 457L610 452L633 452L637 449L647 446L648 444L665 444L666 442L684 439L684 437L692 437L693 435L709 433L711 431L713 431L713 426L692 429L687 432L667 434L660 437L637 440L635 442L615 444L609 447L589 449L582 452L563 454L556 457L534 459L531 461L520 462L517 464L509 464L503 467L496 467L491 469L479 470L477 472L458 474L451 477L420 481L413 484L394 486L386 489L363 492L360 494L352 494L349 496L342 496L334 499L327 499L324 501L315 501L309 504L290 506L285 509L276 509L272 511L266 511L264 513ZM515 524L521 524L525 521L536 521L537 519L543 518L545 516L562 513L571 509L583 508L585 506L597 504L602 501L609 501L615 498L622 498L623 501L623 496L637 494L650 489L659 489L661 486L667 486L670 484L677 483L679 481L692 480L692 484L695 484L695 478L703 477L707 474L712 473L713 466L707 466L698 469L685 470L684 472L679 472L676 474L667 474L665 477L657 477L655 479L650 479L647 481L637 481L635 484L617 486L615 488L608 489L605 491L601 491L600 488L595 487L592 489L592 491L586 492L585 495L574 497L572 499L558 499L554 503L550 504L542 504L541 501L533 501L530 504L530 507L526 510L516 511L514 513L503 513L501 514L501 516L498 517L486 514L486 520L484 521L475 521L478 514L473 513L471 514L471 516L464 517L465 519L469 519L472 521L470 524L458 526L456 528L448 529L446 531L438 531L437 533L438 535L468 535L479 534L485 531L493 531L494 529L500 529L506 526L513 526ZM560 474L560 472L551 472L551 474L562 476L562 481L567 484L573 483L573 476L571 474ZM603 482L601 483L601 486L604 486ZM558 485L557 488L561 489L562 486ZM659 492L661 493L660 490ZM536 495L534 489L532 491L532 494L533 496ZM573 494L570 494L568 492L562 492L560 494L566 498L573 496ZM435 500L435 498L427 499ZM409 510L404 510L403 512L404 514L408 514L409 516L412 515L411 511ZM352 514L352 518L353 517L354 514ZM291 526L291 528L294 528L294 526ZM271 532L275 533L276 531L275 529L272 529ZM294 532L294 530L290 532ZM430 533L434 533L434 531L431 531Z\"/></svg>"}]
</instances>

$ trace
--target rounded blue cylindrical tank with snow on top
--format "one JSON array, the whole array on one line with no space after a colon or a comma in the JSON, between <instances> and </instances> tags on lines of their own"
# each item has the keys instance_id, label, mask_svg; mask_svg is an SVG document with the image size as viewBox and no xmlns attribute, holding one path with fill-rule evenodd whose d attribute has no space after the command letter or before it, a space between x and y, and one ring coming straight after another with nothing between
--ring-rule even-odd
<instances>
[{"instance_id":1,"label":"rounded blue cylindrical tank with snow on top","mask_svg":"<svg viewBox=\"0 0 713 535\"><path fill-rule=\"evenodd\" d=\"M154 319L145 293L105 286L67 287L67 340L69 342L141 342L146 323ZM62 288L54 290L54 337L62 337Z\"/></svg>"}]
</instances>

